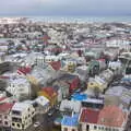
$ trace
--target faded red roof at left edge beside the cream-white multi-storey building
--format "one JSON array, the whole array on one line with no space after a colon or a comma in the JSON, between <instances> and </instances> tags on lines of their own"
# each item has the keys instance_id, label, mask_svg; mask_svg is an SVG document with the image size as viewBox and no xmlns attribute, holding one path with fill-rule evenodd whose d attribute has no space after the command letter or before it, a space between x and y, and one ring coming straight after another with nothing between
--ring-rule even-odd
<instances>
[{"instance_id":1,"label":"faded red roof at left edge beside the cream-white multi-storey building","mask_svg":"<svg viewBox=\"0 0 131 131\"><path fill-rule=\"evenodd\" d=\"M13 105L14 104L10 103L0 104L0 114L8 114L13 107Z\"/></svg>"}]
</instances>

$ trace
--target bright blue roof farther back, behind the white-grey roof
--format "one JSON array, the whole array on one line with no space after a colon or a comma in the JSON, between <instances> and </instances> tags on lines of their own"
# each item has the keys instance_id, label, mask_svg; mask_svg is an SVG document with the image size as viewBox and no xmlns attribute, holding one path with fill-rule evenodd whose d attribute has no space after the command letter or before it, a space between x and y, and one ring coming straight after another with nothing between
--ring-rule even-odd
<instances>
[{"instance_id":1,"label":"bright blue roof farther back, behind the white-grey roof","mask_svg":"<svg viewBox=\"0 0 131 131\"><path fill-rule=\"evenodd\" d=\"M82 102L82 100L87 99L87 95L86 94L75 93L75 94L72 95L71 99L72 100L80 100L80 102Z\"/></svg>"}]
</instances>

